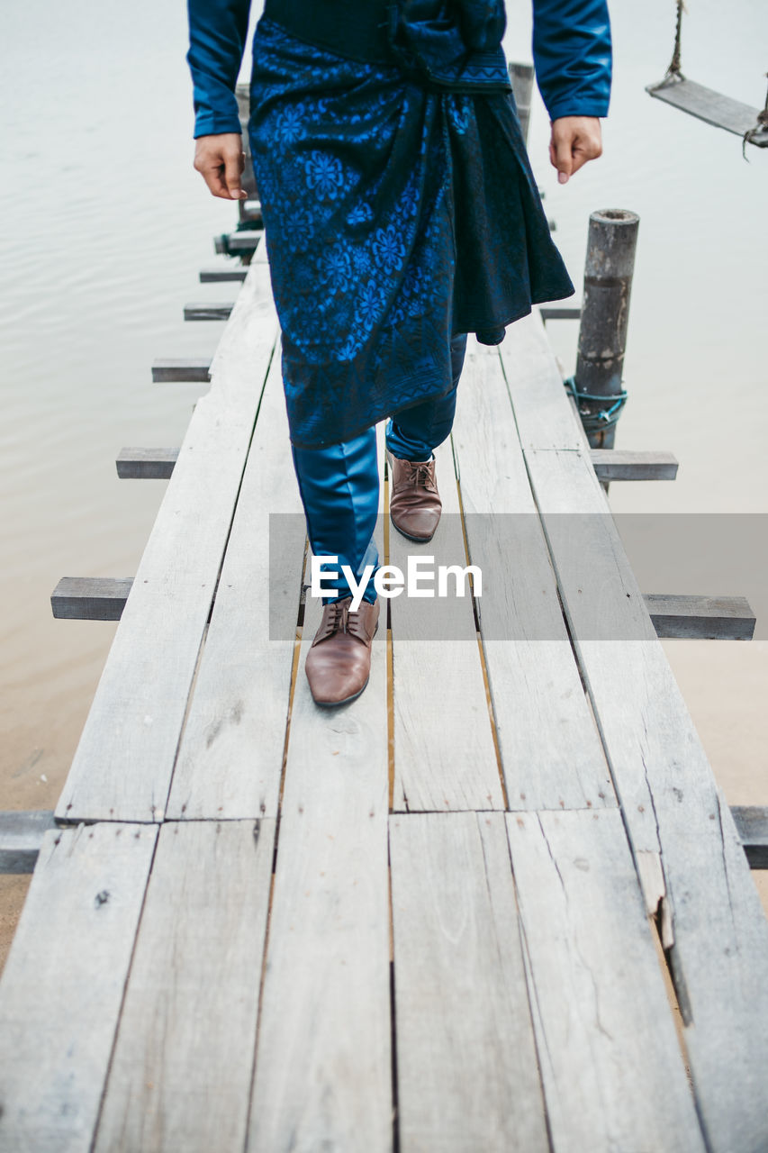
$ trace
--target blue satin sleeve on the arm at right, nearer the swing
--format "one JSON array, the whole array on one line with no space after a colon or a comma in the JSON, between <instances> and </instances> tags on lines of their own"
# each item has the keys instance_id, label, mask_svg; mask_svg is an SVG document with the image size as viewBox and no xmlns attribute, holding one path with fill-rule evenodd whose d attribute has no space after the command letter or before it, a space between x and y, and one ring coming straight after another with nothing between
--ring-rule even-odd
<instances>
[{"instance_id":1,"label":"blue satin sleeve on the arm at right, nearer the swing","mask_svg":"<svg viewBox=\"0 0 768 1153\"><path fill-rule=\"evenodd\" d=\"M536 82L550 120L604 116L611 90L607 0L533 0Z\"/></svg>"}]
</instances>

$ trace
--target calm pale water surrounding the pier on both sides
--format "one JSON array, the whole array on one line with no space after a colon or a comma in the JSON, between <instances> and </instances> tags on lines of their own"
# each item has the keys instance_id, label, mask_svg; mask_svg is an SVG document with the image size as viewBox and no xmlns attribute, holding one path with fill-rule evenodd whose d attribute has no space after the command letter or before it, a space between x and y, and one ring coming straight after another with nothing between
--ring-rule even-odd
<instances>
[{"instance_id":1,"label":"calm pale water surrounding the pier on both sides","mask_svg":"<svg viewBox=\"0 0 768 1153\"><path fill-rule=\"evenodd\" d=\"M768 6L688 8L684 70L761 105ZM589 211L641 217L618 444L672 450L682 467L673 484L616 484L611 502L765 513L768 150L747 164L737 137L645 93L671 53L671 0L641 18L626 0L612 10L603 159L559 188L541 104L530 134L577 284ZM510 55L529 59L528 6L509 12ZM115 626L54 621L50 594L62 575L136 570L164 483L119 482L114 458L182 439L201 389L152 385L150 364L213 349L221 326L185 325L181 309L231 299L197 272L235 212L190 166L183 3L25 0L3 6L0 35L0 808L53 807ZM570 370L575 326L550 327ZM767 804L768 641L667 649L728 799Z\"/></svg>"}]
</instances>

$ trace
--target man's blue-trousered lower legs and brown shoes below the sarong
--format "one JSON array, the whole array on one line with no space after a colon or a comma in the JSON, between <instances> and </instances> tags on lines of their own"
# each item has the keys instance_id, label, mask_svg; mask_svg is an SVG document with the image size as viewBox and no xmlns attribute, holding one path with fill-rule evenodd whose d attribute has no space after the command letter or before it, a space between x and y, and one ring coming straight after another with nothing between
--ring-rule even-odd
<instances>
[{"instance_id":1,"label":"man's blue-trousered lower legs and brown shoes below the sarong","mask_svg":"<svg viewBox=\"0 0 768 1153\"><path fill-rule=\"evenodd\" d=\"M415 542L430 540L439 520L432 453L451 432L466 344L464 334L451 341L452 378L443 395L420 401L387 421L390 517L394 527ZM293 445L292 451L313 553L336 557L323 568L338 573L324 582L333 594L323 597L323 620L306 671L316 703L342 704L359 696L368 684L371 642L378 626L374 586L379 497L376 429L321 449ZM344 575L344 566L353 581ZM356 609L355 594L360 601Z\"/></svg>"}]
</instances>

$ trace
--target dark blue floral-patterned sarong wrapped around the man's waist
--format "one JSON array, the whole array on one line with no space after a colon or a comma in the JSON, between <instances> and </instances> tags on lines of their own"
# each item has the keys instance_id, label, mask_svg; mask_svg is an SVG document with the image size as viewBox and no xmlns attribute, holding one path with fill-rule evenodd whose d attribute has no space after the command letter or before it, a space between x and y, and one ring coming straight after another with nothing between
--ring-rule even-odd
<instances>
[{"instance_id":1,"label":"dark blue floral-patterned sarong wrapped around the man's waist","mask_svg":"<svg viewBox=\"0 0 768 1153\"><path fill-rule=\"evenodd\" d=\"M451 386L451 338L487 344L573 285L511 93L430 89L262 18L249 125L296 445Z\"/></svg>"}]
</instances>

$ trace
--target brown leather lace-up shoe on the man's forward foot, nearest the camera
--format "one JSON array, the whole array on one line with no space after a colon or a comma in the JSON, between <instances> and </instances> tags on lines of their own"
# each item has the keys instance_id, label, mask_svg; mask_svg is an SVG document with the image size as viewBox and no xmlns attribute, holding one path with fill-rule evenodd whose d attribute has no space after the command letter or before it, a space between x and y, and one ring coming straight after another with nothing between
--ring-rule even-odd
<instances>
[{"instance_id":1,"label":"brown leather lace-up shoe on the man's forward foot, nearest the camera","mask_svg":"<svg viewBox=\"0 0 768 1153\"><path fill-rule=\"evenodd\" d=\"M378 628L378 601L361 601L351 612L352 597L331 601L307 654L304 671L315 704L345 704L360 696L370 673L370 643Z\"/></svg>"}]
</instances>

